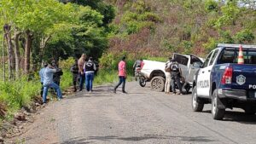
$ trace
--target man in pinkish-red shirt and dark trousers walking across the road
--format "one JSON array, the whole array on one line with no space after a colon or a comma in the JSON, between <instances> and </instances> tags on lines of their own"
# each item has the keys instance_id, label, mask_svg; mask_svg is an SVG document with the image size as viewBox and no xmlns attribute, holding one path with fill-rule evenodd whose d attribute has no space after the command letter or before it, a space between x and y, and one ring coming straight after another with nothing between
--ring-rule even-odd
<instances>
[{"instance_id":1,"label":"man in pinkish-red shirt and dark trousers walking across the road","mask_svg":"<svg viewBox=\"0 0 256 144\"><path fill-rule=\"evenodd\" d=\"M116 93L116 89L119 87L120 84L122 85L122 92L127 94L125 91L125 79L126 79L126 57L124 56L122 60L119 62L119 83L113 88L113 93Z\"/></svg>"}]
</instances>

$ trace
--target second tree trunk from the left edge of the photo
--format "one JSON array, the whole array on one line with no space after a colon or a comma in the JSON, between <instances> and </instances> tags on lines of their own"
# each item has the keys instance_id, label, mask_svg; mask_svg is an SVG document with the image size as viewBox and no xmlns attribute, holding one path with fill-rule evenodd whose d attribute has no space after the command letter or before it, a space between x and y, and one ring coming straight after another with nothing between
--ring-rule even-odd
<instances>
[{"instance_id":1,"label":"second tree trunk from the left edge of the photo","mask_svg":"<svg viewBox=\"0 0 256 144\"><path fill-rule=\"evenodd\" d=\"M20 77L20 46L19 46L19 37L21 32L15 30L15 78Z\"/></svg>"}]
</instances>

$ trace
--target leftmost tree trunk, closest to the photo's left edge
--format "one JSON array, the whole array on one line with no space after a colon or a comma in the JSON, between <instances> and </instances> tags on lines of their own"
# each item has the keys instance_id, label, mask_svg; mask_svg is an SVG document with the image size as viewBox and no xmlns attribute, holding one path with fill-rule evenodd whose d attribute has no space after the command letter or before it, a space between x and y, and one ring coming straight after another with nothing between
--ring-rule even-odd
<instances>
[{"instance_id":1,"label":"leftmost tree trunk, closest to the photo's left edge","mask_svg":"<svg viewBox=\"0 0 256 144\"><path fill-rule=\"evenodd\" d=\"M13 43L11 40L11 26L9 24L5 24L3 26L3 32L4 32L4 37L7 43L8 47L8 70L9 70L9 79L14 78L14 72L13 70L15 69L15 56L14 56L14 49L13 49Z\"/></svg>"}]
</instances>

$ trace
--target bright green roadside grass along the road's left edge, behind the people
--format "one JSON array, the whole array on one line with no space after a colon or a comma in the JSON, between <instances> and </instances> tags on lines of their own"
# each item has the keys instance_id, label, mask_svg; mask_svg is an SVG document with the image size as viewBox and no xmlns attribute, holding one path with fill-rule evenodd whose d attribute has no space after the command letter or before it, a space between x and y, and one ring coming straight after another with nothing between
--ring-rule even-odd
<instances>
[{"instance_id":1,"label":"bright green roadside grass along the road's left edge, behind the people","mask_svg":"<svg viewBox=\"0 0 256 144\"><path fill-rule=\"evenodd\" d=\"M67 66L61 68L63 75L61 76L61 90L69 88L73 84L73 74L70 72L68 66L72 66L72 60L69 60ZM65 64L66 64L65 63ZM132 80L132 65L134 61L127 60L127 81ZM2 73L0 73L2 75ZM28 77L23 76L16 80L5 81L0 80L0 107L5 110L5 115L1 116L0 113L0 122L2 119L11 120L14 116L14 113L17 112L21 107L28 107L32 104L32 101L40 95L41 84L38 76L38 72L34 74L31 80L28 81ZM100 69L97 73L94 85L102 84L116 84L119 81L117 66L112 66L110 69ZM49 98L53 97L49 93ZM1 123L0 123L1 124Z\"/></svg>"}]
</instances>

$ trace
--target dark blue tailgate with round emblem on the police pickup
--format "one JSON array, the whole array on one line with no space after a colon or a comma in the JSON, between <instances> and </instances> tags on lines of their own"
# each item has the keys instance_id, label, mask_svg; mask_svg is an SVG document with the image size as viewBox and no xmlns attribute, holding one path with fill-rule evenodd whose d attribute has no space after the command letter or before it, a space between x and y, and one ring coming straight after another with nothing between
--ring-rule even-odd
<instances>
[{"instance_id":1,"label":"dark blue tailgate with round emblem on the police pickup","mask_svg":"<svg viewBox=\"0 0 256 144\"><path fill-rule=\"evenodd\" d=\"M233 68L232 89L256 90L256 65L231 64Z\"/></svg>"}]
</instances>

